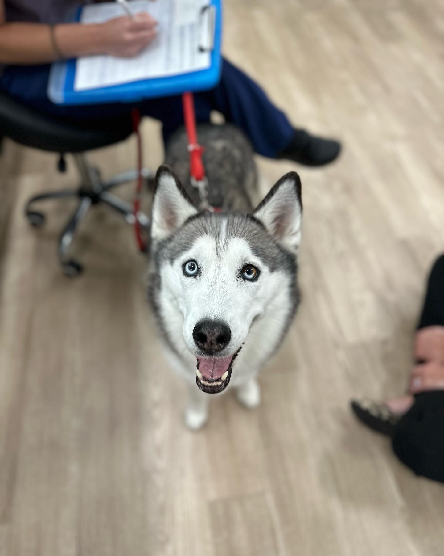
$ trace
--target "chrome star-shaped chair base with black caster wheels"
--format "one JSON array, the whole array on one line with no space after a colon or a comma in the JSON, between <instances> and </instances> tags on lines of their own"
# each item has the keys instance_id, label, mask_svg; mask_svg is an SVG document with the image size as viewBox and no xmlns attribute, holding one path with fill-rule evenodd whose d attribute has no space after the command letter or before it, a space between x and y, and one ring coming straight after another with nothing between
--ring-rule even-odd
<instances>
[{"instance_id":1,"label":"chrome star-shaped chair base with black caster wheels","mask_svg":"<svg viewBox=\"0 0 444 556\"><path fill-rule=\"evenodd\" d=\"M44 224L46 217L43 212L34 209L34 203L49 199L75 197L79 199L78 205L60 233L58 241L58 259L64 274L69 277L78 276L83 271L83 265L79 261L72 259L72 257L69 256L69 251L80 222L93 205L98 205L103 202L122 215L128 224L134 225L135 219L137 218L140 226L142 226L145 231L149 230L149 218L147 215L143 212L134 215L132 205L109 192L113 187L134 181L138 175L137 171L131 170L123 172L109 181L102 182L99 178L97 169L88 165L84 155L75 155L75 161L79 169L80 177L82 178L82 183L78 189L51 191L36 195L29 199L24 211L30 224L34 227L40 227ZM144 169L143 177L145 180L149 180L152 176L152 172Z\"/></svg>"}]
</instances>

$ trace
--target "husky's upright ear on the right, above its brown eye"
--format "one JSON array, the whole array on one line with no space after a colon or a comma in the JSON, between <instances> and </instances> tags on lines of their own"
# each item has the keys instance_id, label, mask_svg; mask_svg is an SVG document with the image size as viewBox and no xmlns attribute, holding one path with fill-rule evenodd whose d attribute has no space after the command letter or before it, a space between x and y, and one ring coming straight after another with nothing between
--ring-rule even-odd
<instances>
[{"instance_id":1,"label":"husky's upright ear on the right, above its brown eye","mask_svg":"<svg viewBox=\"0 0 444 556\"><path fill-rule=\"evenodd\" d=\"M253 212L270 234L294 253L301 242L301 192L299 176L296 172L289 172L280 178Z\"/></svg>"}]
</instances>

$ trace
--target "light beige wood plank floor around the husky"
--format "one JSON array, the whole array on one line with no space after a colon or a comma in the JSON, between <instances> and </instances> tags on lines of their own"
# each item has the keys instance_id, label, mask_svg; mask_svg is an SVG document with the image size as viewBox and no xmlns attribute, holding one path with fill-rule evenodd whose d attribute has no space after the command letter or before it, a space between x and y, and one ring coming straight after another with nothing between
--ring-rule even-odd
<instances>
[{"instance_id":1,"label":"light beige wood plank floor around the husky","mask_svg":"<svg viewBox=\"0 0 444 556\"><path fill-rule=\"evenodd\" d=\"M443 250L443 30L440 0L227 0L226 54L344 153L323 170L259 160L270 183L302 178L304 299L261 408L223 396L198 434L181 424L131 231L92 213L75 246L87 271L65 279L54 242L69 203L37 232L22 208L73 169L5 143L1 556L441 556L444 488L348 403L403 390ZM158 126L144 135L155 168ZM133 157L133 141L94 153L107 175Z\"/></svg>"}]
</instances>

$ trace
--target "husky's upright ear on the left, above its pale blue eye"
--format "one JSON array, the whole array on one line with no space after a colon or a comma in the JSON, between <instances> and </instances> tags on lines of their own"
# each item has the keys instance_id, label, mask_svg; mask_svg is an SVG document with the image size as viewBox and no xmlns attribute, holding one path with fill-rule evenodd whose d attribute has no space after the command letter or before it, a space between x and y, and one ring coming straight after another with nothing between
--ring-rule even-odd
<instances>
[{"instance_id":1,"label":"husky's upright ear on the left, above its pale blue eye","mask_svg":"<svg viewBox=\"0 0 444 556\"><path fill-rule=\"evenodd\" d=\"M160 166L155 177L151 237L163 240L198 213L169 166Z\"/></svg>"}]
</instances>

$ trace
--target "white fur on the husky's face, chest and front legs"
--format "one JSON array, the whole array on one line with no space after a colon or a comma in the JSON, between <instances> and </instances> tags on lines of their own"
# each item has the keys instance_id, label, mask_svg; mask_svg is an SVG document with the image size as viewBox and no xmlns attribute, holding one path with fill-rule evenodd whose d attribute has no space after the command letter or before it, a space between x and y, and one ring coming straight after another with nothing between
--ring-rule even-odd
<instances>
[{"instance_id":1,"label":"white fur on the husky's face, chest and front legs","mask_svg":"<svg viewBox=\"0 0 444 556\"><path fill-rule=\"evenodd\" d=\"M200 280L190 280L183 275L182 265L190 259L199 261L203 268ZM236 271L246 261L261 270L260 279L253 284L236 280ZM218 257L214 239L201 237L180 260L160 269L160 279L160 314L179 354L169 351L168 358L172 368L190 385L186 425L196 430L208 419L211 396L202 393L195 384L196 345L193 340L196 322L206 318L228 322L230 345L236 349L245 342L233 364L227 390L238 389L237 398L246 408L259 405L260 390L255 376L280 342L291 310L290 276L284 271L270 272L256 261L242 239L231 240L226 252ZM254 317L258 318L251 325Z\"/></svg>"}]
</instances>

